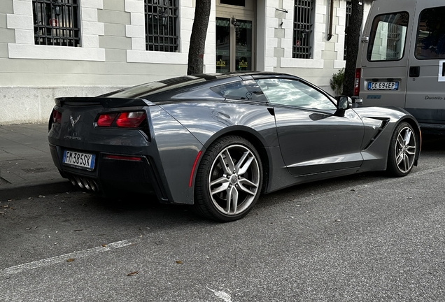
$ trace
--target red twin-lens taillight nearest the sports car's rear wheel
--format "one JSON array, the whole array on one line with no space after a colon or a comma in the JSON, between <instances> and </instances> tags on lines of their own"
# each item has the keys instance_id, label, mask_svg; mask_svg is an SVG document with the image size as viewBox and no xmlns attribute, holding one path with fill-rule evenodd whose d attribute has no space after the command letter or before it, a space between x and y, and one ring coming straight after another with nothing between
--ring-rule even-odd
<instances>
[{"instance_id":1,"label":"red twin-lens taillight nearest the sports car's rear wheel","mask_svg":"<svg viewBox=\"0 0 445 302\"><path fill-rule=\"evenodd\" d=\"M122 128L136 128L141 126L146 120L145 111L132 111L123 113L104 113L99 115L97 126L111 127L117 126Z\"/></svg>"}]
</instances>

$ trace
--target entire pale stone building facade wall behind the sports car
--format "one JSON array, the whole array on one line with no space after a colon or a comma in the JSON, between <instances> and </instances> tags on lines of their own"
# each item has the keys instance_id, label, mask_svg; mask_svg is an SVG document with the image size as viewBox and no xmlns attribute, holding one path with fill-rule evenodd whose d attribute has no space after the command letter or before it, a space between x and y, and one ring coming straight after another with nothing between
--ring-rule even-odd
<instances>
[{"instance_id":1,"label":"entire pale stone building facade wall behind the sports car","mask_svg":"<svg viewBox=\"0 0 445 302\"><path fill-rule=\"evenodd\" d=\"M327 42L328 1L316 0L313 59L292 59L294 1L257 0L257 70L296 74L330 90L332 73L344 66L346 1L334 1L334 36ZM58 96L96 96L187 71L195 0L180 1L178 52L145 50L143 0L82 0L82 47L34 45L31 3L0 3L0 124L46 122ZM206 73L216 71L215 20L212 1Z\"/></svg>"}]
</instances>

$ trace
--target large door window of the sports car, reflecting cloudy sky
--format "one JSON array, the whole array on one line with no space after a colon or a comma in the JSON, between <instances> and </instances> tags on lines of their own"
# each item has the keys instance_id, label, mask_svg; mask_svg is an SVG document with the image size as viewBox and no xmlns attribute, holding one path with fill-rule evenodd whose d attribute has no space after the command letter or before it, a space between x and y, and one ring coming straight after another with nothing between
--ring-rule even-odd
<instances>
[{"instance_id":1,"label":"large door window of the sports car, reflecting cloudy sky","mask_svg":"<svg viewBox=\"0 0 445 302\"><path fill-rule=\"evenodd\" d=\"M272 104L333 110L334 103L304 82L290 79L258 79L258 85Z\"/></svg>"}]
</instances>

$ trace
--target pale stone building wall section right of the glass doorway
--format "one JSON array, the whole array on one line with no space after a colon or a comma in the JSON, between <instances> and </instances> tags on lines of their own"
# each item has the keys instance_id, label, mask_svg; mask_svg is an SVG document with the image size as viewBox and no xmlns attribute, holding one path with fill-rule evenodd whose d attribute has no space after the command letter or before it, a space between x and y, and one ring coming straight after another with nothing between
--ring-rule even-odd
<instances>
[{"instance_id":1,"label":"pale stone building wall section right of the glass doorway","mask_svg":"<svg viewBox=\"0 0 445 302\"><path fill-rule=\"evenodd\" d=\"M334 0L332 0L334 1ZM334 1L334 17L332 18L332 38L327 41L330 0L317 0L314 12L313 28L313 58L292 58L292 35L293 35L293 0L277 0L279 8L288 10L288 13L275 10L273 44L274 71L298 75L309 82L313 82L327 92L333 93L330 88L332 74L346 65L344 61L344 43L346 26L346 1ZM372 1L363 1L365 26L366 17L371 8ZM277 24L283 24L277 27ZM279 22L279 23L278 23ZM270 31L271 32L271 31ZM276 45L276 46L275 46ZM272 49L270 49L270 54Z\"/></svg>"}]
</instances>

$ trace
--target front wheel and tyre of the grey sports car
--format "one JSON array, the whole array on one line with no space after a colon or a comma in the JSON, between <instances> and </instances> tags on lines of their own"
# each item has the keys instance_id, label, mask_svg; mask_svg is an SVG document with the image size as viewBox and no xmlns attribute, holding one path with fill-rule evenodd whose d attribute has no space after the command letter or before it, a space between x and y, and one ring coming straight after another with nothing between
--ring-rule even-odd
<instances>
[{"instance_id":1,"label":"front wheel and tyre of the grey sports car","mask_svg":"<svg viewBox=\"0 0 445 302\"><path fill-rule=\"evenodd\" d=\"M389 175L402 177L408 175L414 165L418 152L417 136L413 127L407 122L401 122L395 127L388 151Z\"/></svg>"}]
</instances>

